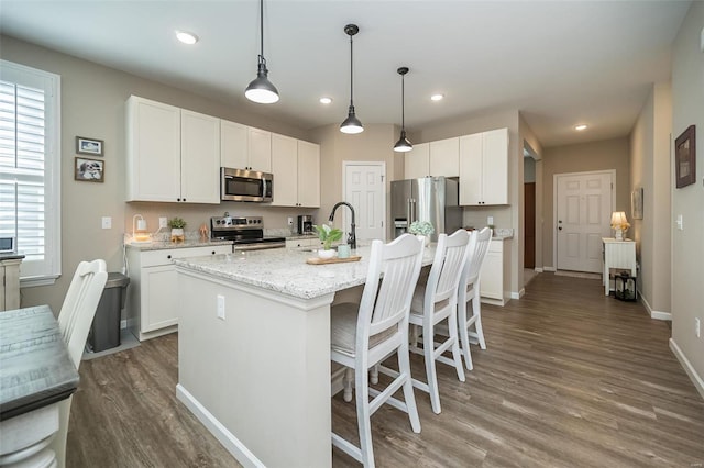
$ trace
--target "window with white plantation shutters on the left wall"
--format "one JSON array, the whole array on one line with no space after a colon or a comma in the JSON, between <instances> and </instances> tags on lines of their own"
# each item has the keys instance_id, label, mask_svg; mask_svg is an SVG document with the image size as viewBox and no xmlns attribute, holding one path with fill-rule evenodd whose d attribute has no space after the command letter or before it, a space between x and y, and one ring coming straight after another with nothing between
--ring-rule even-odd
<instances>
[{"instance_id":1,"label":"window with white plantation shutters on the left wall","mask_svg":"<svg viewBox=\"0 0 704 468\"><path fill-rule=\"evenodd\" d=\"M0 236L25 256L23 286L61 274L58 80L0 60Z\"/></svg>"}]
</instances>

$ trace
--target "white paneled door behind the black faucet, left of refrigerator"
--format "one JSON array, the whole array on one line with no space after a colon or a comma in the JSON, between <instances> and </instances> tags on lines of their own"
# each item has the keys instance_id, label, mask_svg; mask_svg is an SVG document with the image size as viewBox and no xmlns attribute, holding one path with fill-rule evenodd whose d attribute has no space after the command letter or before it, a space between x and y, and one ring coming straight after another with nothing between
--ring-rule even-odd
<instances>
[{"instance_id":1,"label":"white paneled door behind the black faucet, left of refrigerator","mask_svg":"<svg viewBox=\"0 0 704 468\"><path fill-rule=\"evenodd\" d=\"M374 238L385 241L386 166L384 163L351 161L345 161L343 165L344 201L354 207L358 241ZM350 222L349 210L345 210L343 224L345 232L349 231Z\"/></svg>"}]
</instances>

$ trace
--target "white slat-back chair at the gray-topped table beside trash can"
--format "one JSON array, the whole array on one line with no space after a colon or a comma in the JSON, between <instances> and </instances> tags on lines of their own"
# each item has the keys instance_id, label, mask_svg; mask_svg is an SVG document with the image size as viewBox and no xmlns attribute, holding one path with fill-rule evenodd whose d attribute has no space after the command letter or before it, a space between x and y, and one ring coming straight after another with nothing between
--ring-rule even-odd
<instances>
[{"instance_id":1,"label":"white slat-back chair at the gray-topped table beside trash can","mask_svg":"<svg viewBox=\"0 0 704 468\"><path fill-rule=\"evenodd\" d=\"M81 261L74 274L58 313L58 327L68 348L68 357L76 366L76 370L80 367L88 331L107 281L108 271L105 260ZM56 453L59 468L66 466L66 436L72 401L73 395L57 403L59 405L59 425L58 432L51 443L51 448Z\"/></svg>"}]
</instances>

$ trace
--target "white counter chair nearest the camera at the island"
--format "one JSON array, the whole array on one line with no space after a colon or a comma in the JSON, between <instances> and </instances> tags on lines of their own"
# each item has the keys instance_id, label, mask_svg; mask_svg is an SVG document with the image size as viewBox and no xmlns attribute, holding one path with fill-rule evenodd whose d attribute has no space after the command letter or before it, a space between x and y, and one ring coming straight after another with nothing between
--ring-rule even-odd
<instances>
[{"instance_id":1,"label":"white counter chair nearest the camera at the island","mask_svg":"<svg viewBox=\"0 0 704 468\"><path fill-rule=\"evenodd\" d=\"M410 377L408 314L421 263L422 242L414 235L404 234L386 245L374 241L360 303L332 307L330 355L333 361L354 370L360 447L334 432L332 445L365 467L374 466L370 419L383 403L408 413L413 431L420 432ZM370 388L369 369L394 353L398 355L399 369L395 379L384 391ZM405 402L393 398L400 388ZM370 394L374 397L372 401Z\"/></svg>"}]
</instances>

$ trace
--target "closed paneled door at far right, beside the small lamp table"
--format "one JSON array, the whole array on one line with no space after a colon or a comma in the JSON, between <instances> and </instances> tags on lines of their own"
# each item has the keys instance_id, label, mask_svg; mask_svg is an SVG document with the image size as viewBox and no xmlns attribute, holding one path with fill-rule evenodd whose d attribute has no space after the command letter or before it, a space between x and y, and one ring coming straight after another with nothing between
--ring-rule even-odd
<instances>
[{"instance_id":1,"label":"closed paneled door at far right, beside the small lamp table","mask_svg":"<svg viewBox=\"0 0 704 468\"><path fill-rule=\"evenodd\" d=\"M614 178L614 171L556 175L558 269L602 271L602 237L610 234Z\"/></svg>"}]
</instances>

